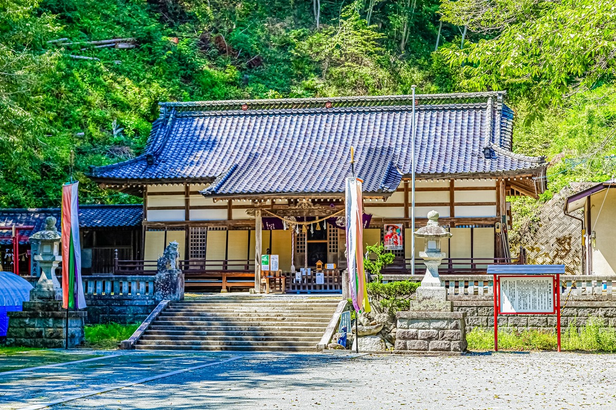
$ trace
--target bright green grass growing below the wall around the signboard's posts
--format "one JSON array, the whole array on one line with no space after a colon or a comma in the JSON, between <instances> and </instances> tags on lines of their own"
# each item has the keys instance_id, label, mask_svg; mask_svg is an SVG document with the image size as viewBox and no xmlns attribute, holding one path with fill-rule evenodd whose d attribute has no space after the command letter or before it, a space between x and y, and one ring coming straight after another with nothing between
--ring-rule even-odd
<instances>
[{"instance_id":1,"label":"bright green grass growing below the wall around the signboard's posts","mask_svg":"<svg viewBox=\"0 0 616 410\"><path fill-rule=\"evenodd\" d=\"M584 352L616 352L616 330L604 328L599 318L591 317L578 331L575 321L561 337L561 350ZM469 350L494 350L494 331L474 328L466 334ZM498 329L499 350L556 350L555 333L536 329L513 331Z\"/></svg>"}]
</instances>

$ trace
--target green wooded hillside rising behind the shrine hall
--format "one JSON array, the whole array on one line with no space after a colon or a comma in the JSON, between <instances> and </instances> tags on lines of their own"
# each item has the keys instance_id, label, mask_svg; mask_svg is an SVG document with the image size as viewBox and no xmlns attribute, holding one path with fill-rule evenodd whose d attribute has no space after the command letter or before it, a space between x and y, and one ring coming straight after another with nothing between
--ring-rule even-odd
<instances>
[{"instance_id":1,"label":"green wooded hillside rising behind the shrine hall","mask_svg":"<svg viewBox=\"0 0 616 410\"><path fill-rule=\"evenodd\" d=\"M549 198L616 172L607 0L1 0L0 207L134 157L158 101L508 90Z\"/></svg>"}]
</instances>

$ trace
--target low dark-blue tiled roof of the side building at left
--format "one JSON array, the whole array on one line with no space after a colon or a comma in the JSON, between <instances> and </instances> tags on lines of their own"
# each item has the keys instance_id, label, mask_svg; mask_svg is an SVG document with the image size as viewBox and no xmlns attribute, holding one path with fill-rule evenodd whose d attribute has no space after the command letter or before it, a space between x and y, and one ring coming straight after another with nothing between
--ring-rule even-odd
<instances>
[{"instance_id":1,"label":"low dark-blue tiled roof of the side building at left","mask_svg":"<svg viewBox=\"0 0 616 410\"><path fill-rule=\"evenodd\" d=\"M15 208L0 209L0 226L34 226L32 231L20 231L19 242L27 243L34 232L41 231L47 216L57 219L56 227L60 231L60 208ZM131 227L141 226L143 219L142 205L80 205L80 227ZM0 230L0 245L10 243L12 231Z\"/></svg>"}]
</instances>

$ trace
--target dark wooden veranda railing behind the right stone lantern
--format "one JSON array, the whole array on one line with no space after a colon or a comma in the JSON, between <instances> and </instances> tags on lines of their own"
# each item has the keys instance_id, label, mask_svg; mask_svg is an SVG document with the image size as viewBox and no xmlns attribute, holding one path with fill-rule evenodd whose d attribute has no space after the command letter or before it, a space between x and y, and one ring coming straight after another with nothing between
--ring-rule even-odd
<instances>
[{"instance_id":1,"label":"dark wooden veranda railing behind the right stone lantern","mask_svg":"<svg viewBox=\"0 0 616 410\"><path fill-rule=\"evenodd\" d=\"M440 262L439 274L481 274L488 265L523 264L523 259L516 258L444 258ZM383 269L383 274L411 274L411 258L394 259L394 262ZM415 259L415 274L426 272L426 265L421 258Z\"/></svg>"}]
</instances>

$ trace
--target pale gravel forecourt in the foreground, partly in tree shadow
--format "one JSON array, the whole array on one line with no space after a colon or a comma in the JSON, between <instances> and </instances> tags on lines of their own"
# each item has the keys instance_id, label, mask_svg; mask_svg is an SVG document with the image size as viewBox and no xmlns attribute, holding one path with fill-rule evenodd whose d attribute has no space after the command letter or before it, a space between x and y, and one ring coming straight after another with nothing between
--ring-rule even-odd
<instances>
[{"instance_id":1,"label":"pale gravel forecourt in the foreground, partly in tree shadow","mask_svg":"<svg viewBox=\"0 0 616 410\"><path fill-rule=\"evenodd\" d=\"M0 409L23 408L51 396L58 399L229 358L237 359L52 409L616 409L616 355L504 352L355 358L128 354L96 365L47 369L46 377L0 374L0 395L5 393Z\"/></svg>"}]
</instances>

